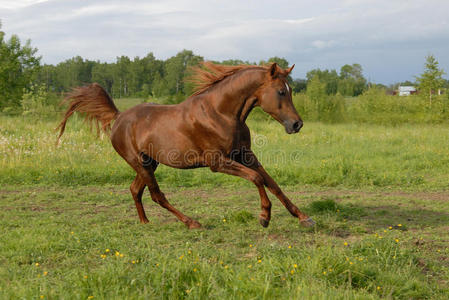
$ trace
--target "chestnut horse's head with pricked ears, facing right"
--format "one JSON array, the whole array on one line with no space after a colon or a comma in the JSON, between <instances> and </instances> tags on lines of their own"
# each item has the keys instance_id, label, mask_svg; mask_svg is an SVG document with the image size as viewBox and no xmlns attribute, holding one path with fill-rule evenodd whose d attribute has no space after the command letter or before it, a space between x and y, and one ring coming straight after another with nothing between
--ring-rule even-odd
<instances>
[{"instance_id":1,"label":"chestnut horse's head with pricked ears, facing right","mask_svg":"<svg viewBox=\"0 0 449 300\"><path fill-rule=\"evenodd\" d=\"M257 90L258 105L279 123L287 133L298 132L303 123L292 101L292 89L287 76L293 70L280 68L273 63L266 74L265 83Z\"/></svg>"}]
</instances>

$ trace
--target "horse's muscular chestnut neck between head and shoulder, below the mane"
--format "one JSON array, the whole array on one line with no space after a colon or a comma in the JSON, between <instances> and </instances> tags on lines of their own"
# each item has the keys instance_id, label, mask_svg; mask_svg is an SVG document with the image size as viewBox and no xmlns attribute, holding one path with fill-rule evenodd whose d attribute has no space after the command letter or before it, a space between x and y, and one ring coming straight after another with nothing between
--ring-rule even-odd
<instances>
[{"instance_id":1,"label":"horse's muscular chestnut neck between head and shoulder, below the mane","mask_svg":"<svg viewBox=\"0 0 449 300\"><path fill-rule=\"evenodd\" d=\"M219 83L212 100L215 110L229 118L245 122L257 101L252 96L263 84L263 79L263 71L255 69L237 73Z\"/></svg>"}]
</instances>

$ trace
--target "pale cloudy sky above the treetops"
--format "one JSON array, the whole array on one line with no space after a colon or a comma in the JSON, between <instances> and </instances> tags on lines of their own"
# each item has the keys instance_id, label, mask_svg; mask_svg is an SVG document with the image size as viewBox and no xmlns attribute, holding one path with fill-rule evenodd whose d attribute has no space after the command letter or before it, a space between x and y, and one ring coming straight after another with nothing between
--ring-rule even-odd
<instances>
[{"instance_id":1,"label":"pale cloudy sky above the treetops","mask_svg":"<svg viewBox=\"0 0 449 300\"><path fill-rule=\"evenodd\" d=\"M413 80L434 54L449 73L448 0L0 0L0 20L52 64L189 49L211 60L285 57L294 77L360 63L388 84Z\"/></svg>"}]
</instances>

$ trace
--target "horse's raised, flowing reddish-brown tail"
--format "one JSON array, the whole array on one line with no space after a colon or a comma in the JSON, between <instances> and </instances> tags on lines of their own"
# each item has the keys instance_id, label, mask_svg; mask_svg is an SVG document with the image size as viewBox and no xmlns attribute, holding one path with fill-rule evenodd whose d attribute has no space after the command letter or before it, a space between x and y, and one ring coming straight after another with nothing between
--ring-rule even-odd
<instances>
[{"instance_id":1,"label":"horse's raised, flowing reddish-brown tail","mask_svg":"<svg viewBox=\"0 0 449 300\"><path fill-rule=\"evenodd\" d=\"M95 123L98 131L101 124L101 129L106 133L111 130L111 122L120 113L109 94L98 83L74 88L62 103L65 102L69 103L69 108L56 128L60 129L56 144L64 133L67 120L75 111L83 113L87 121Z\"/></svg>"}]
</instances>

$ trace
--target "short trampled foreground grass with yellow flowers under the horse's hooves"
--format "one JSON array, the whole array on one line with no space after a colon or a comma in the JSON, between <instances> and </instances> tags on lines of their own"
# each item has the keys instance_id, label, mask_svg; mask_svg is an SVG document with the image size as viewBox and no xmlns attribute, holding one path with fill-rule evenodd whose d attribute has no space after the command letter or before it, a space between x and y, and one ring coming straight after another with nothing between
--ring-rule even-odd
<instances>
[{"instance_id":1,"label":"short trampled foreground grass with yellow flowers under the horse's hooves","mask_svg":"<svg viewBox=\"0 0 449 300\"><path fill-rule=\"evenodd\" d=\"M126 187L4 189L0 298L443 299L449 292L446 194L288 189L317 227L300 227L272 199L265 229L255 189L165 191L204 229L186 229L147 194L150 223L140 225Z\"/></svg>"}]
</instances>

